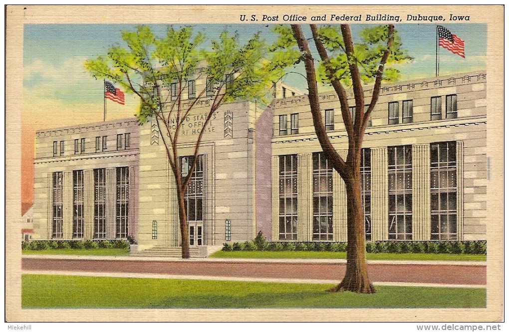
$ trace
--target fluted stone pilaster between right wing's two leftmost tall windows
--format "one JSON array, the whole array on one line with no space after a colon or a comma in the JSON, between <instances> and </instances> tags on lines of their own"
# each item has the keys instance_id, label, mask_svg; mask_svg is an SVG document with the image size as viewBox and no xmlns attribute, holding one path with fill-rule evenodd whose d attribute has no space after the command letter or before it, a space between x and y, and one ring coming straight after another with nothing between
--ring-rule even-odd
<instances>
[{"instance_id":1,"label":"fluted stone pilaster between right wing's two leftmost tall windows","mask_svg":"<svg viewBox=\"0 0 509 332\"><path fill-rule=\"evenodd\" d=\"M313 154L297 155L297 241L313 239Z\"/></svg>"}]
</instances>

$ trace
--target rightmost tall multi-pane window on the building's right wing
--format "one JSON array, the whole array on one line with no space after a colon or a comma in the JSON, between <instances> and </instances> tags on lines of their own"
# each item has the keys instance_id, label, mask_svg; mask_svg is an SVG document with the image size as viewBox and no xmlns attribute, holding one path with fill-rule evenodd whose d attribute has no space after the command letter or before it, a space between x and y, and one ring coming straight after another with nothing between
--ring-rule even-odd
<instances>
[{"instance_id":1,"label":"rightmost tall multi-pane window on the building's right wing","mask_svg":"<svg viewBox=\"0 0 509 332\"><path fill-rule=\"evenodd\" d=\"M431 239L458 239L456 142L430 145Z\"/></svg>"}]
</instances>

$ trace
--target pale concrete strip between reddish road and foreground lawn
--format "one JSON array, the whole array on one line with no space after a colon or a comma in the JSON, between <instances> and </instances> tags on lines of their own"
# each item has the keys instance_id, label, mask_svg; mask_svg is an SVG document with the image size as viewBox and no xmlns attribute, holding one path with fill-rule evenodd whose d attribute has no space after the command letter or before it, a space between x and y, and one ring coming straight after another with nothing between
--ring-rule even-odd
<instances>
[{"instance_id":1,"label":"pale concrete strip between reddish road and foreground lawn","mask_svg":"<svg viewBox=\"0 0 509 332\"><path fill-rule=\"evenodd\" d=\"M295 284L337 284L338 280L319 279L274 279L274 278L236 278L204 275L179 275L159 273L115 273L115 272L81 272L81 271L23 271L22 274L42 275L76 275L111 278L148 278L148 279L184 279L184 280L214 280L214 281L243 281L264 283L295 283ZM374 282L375 286L412 286L412 287L444 287L444 288L486 288L486 285L454 285L454 284L429 284L429 283L397 283L397 282Z\"/></svg>"}]
</instances>

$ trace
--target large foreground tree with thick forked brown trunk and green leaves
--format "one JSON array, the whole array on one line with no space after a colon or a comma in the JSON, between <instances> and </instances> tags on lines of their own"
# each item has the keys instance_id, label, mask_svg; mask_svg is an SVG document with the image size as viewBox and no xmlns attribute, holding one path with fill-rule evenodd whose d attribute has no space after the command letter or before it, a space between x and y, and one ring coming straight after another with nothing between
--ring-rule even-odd
<instances>
[{"instance_id":1,"label":"large foreground tree with thick forked brown trunk and green leaves","mask_svg":"<svg viewBox=\"0 0 509 332\"><path fill-rule=\"evenodd\" d=\"M388 65L410 59L401 49L401 42L394 25L378 25L363 29L360 41L354 43L350 26L318 27L310 24L320 67L315 66L313 52L300 25L278 26L277 47L298 49L300 54L294 63L303 62L306 71L308 97L313 125L325 157L345 182L347 193L347 268L343 281L329 291L352 291L373 293L375 288L369 280L365 261L364 219L360 187L360 156L367 122L375 107L382 80L393 80L399 71L385 68ZM341 114L348 135L348 155L344 160L332 146L325 130L318 98L317 77L332 86L340 100ZM362 85L373 82L369 106L364 109ZM355 97L355 114L352 119L345 86L351 86Z\"/></svg>"}]
</instances>

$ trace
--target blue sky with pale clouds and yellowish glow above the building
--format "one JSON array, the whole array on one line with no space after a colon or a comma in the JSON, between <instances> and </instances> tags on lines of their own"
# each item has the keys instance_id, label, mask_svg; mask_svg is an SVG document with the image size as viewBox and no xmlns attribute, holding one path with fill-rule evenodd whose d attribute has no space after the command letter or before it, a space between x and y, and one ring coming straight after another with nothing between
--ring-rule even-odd
<instances>
[{"instance_id":1,"label":"blue sky with pale clouds and yellowish glow above the building","mask_svg":"<svg viewBox=\"0 0 509 332\"><path fill-rule=\"evenodd\" d=\"M163 35L166 25L150 24ZM365 24L353 24L355 35ZM486 24L444 24L465 41L466 59L440 48L440 73L466 72L486 69ZM275 36L270 26L263 24L197 24L196 31L216 38L219 32L228 29L237 31L247 40L256 31L272 41ZM33 105L51 105L58 108L73 105L75 112L87 105L88 112L97 107L102 114L102 82L92 78L83 69L87 58L105 54L109 46L121 43L120 32L133 30L132 24L29 24L24 27L23 46L23 92L30 96L25 100L23 114L37 112ZM403 47L414 60L400 67L401 80L425 78L435 75L435 24L397 24ZM301 69L302 70L302 69ZM303 70L302 70L303 71ZM305 92L305 81L299 75L288 75L286 83ZM79 104L79 105L77 105ZM112 117L133 115L136 101L126 100L126 106L109 105ZM65 107L69 109L68 107ZM72 113L75 113L72 112ZM95 112L95 111L94 111ZM45 112L43 112L45 113ZM95 119L95 116L92 118Z\"/></svg>"}]
</instances>

